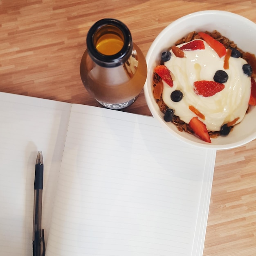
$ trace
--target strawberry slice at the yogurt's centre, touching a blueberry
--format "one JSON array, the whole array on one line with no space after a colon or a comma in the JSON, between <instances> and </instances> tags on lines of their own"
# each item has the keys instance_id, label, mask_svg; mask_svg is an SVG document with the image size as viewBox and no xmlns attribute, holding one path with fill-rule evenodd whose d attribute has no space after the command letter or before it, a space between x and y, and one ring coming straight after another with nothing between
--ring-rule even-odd
<instances>
[{"instance_id":1,"label":"strawberry slice at the yogurt's centre, touching a blueberry","mask_svg":"<svg viewBox=\"0 0 256 256\"><path fill-rule=\"evenodd\" d=\"M223 83L218 83L215 81L195 81L194 92L195 94L202 95L203 97L211 97L217 92L222 91L225 88Z\"/></svg>"}]
</instances>

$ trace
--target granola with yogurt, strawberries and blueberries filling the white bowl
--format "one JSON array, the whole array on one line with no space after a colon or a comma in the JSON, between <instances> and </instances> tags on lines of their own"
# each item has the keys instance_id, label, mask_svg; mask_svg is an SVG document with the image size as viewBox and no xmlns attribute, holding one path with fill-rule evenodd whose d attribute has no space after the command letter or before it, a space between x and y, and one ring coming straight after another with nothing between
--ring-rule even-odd
<instances>
[{"instance_id":1,"label":"granola with yogurt, strawberries and blueberries filling the white bowl","mask_svg":"<svg viewBox=\"0 0 256 256\"><path fill-rule=\"evenodd\" d=\"M162 53L153 94L164 120L211 143L256 105L256 59L218 31L191 32Z\"/></svg>"}]
</instances>

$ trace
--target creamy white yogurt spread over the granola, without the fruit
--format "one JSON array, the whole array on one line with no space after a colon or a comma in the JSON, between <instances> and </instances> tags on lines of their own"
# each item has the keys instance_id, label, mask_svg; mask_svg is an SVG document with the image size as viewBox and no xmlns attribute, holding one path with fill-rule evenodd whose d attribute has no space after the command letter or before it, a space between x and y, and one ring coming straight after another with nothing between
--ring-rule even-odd
<instances>
[{"instance_id":1,"label":"creamy white yogurt spread over the granola, without the fruit","mask_svg":"<svg viewBox=\"0 0 256 256\"><path fill-rule=\"evenodd\" d=\"M242 121L248 108L251 79L243 73L242 66L247 63L243 58L230 57L229 69L224 70L225 57L220 58L205 41L203 43L205 49L184 50L184 58L176 57L171 51L171 59L164 65L171 71L173 87L164 82L162 98L185 123L188 124L196 116L189 109L189 106L193 106L204 115L205 119L201 121L209 131L219 131L223 124L238 117L236 124ZM223 83L225 88L210 97L195 94L194 82L213 81L217 70L224 70L229 76L227 82ZM183 93L181 101L171 100L170 95L174 90Z\"/></svg>"}]
</instances>

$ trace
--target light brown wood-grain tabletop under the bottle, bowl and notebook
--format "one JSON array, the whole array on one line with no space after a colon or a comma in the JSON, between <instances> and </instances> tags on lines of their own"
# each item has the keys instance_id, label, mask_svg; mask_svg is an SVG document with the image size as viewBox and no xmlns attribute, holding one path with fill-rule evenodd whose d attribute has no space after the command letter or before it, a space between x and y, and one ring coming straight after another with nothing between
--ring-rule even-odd
<instances>
[{"instance_id":1,"label":"light brown wood-grain tabletop under the bottle, bowl and notebook","mask_svg":"<svg viewBox=\"0 0 256 256\"><path fill-rule=\"evenodd\" d=\"M256 22L255 0L0 0L0 91L99 106L79 74L94 22L123 21L146 56L164 27L207 9ZM143 92L125 111L151 115ZM217 152L204 256L256 255L255 153L256 140Z\"/></svg>"}]
</instances>

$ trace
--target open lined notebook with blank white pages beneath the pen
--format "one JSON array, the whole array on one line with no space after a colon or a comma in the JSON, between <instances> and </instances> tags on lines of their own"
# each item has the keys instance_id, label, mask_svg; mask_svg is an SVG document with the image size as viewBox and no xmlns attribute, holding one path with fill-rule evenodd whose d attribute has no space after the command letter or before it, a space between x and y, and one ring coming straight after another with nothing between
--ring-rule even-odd
<instances>
[{"instance_id":1,"label":"open lined notebook with blank white pages beneath the pen","mask_svg":"<svg viewBox=\"0 0 256 256\"><path fill-rule=\"evenodd\" d=\"M0 93L0 255L31 255L44 158L46 256L199 256L216 150L153 117Z\"/></svg>"}]
</instances>

